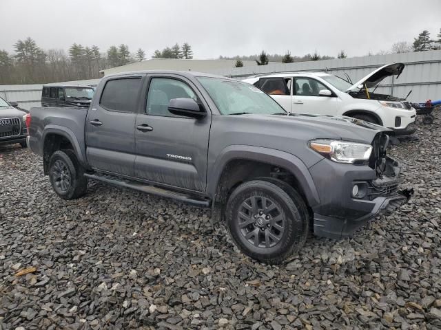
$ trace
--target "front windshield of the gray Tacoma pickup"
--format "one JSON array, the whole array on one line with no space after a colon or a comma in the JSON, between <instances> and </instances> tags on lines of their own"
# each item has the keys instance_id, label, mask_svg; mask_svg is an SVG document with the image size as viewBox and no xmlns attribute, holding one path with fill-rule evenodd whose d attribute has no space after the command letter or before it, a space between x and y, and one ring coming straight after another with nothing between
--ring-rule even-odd
<instances>
[{"instance_id":1,"label":"front windshield of the gray Tacoma pickup","mask_svg":"<svg viewBox=\"0 0 441 330\"><path fill-rule=\"evenodd\" d=\"M198 77L197 79L223 115L285 112L276 101L253 85L222 78Z\"/></svg>"}]
</instances>

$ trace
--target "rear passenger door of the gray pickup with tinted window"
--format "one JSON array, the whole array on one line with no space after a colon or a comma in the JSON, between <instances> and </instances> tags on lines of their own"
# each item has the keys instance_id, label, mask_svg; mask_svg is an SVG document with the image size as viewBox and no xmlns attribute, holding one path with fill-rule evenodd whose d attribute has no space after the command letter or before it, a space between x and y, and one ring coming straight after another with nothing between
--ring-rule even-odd
<instances>
[{"instance_id":1,"label":"rear passenger door of the gray pickup with tinted window","mask_svg":"<svg viewBox=\"0 0 441 330\"><path fill-rule=\"evenodd\" d=\"M134 126L143 75L109 78L103 83L85 122L86 155L92 168L134 176Z\"/></svg>"}]
</instances>

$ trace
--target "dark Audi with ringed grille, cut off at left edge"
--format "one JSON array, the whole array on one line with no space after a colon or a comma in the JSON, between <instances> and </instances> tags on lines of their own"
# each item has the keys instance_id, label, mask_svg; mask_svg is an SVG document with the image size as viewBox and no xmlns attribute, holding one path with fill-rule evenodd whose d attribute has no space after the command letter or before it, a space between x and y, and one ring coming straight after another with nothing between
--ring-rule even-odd
<instances>
[{"instance_id":1,"label":"dark Audi with ringed grille, cut off at left edge","mask_svg":"<svg viewBox=\"0 0 441 330\"><path fill-rule=\"evenodd\" d=\"M28 113L12 107L0 98L0 145L19 143L23 148L26 147L26 118Z\"/></svg>"}]
</instances>

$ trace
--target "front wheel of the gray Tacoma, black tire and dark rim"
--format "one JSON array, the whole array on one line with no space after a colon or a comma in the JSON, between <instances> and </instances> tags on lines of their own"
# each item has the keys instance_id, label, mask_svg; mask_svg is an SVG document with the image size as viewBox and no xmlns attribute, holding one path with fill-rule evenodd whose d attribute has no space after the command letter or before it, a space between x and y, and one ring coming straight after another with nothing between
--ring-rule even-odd
<instances>
[{"instance_id":1,"label":"front wheel of the gray Tacoma, black tire and dark rim","mask_svg":"<svg viewBox=\"0 0 441 330\"><path fill-rule=\"evenodd\" d=\"M309 234L309 216L305 201L291 189L287 192L262 179L240 184L232 192L225 216L240 251L276 264L302 248Z\"/></svg>"}]
</instances>

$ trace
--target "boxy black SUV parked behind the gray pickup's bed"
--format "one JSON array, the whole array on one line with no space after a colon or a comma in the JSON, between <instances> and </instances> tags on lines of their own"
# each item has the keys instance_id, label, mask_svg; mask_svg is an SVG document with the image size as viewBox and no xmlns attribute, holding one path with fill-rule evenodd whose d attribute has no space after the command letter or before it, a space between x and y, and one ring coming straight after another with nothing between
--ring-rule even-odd
<instances>
[{"instance_id":1,"label":"boxy black SUV parked behind the gray pickup's bed","mask_svg":"<svg viewBox=\"0 0 441 330\"><path fill-rule=\"evenodd\" d=\"M41 106L88 108L93 96L94 89L90 86L44 85L41 92Z\"/></svg>"}]
</instances>

